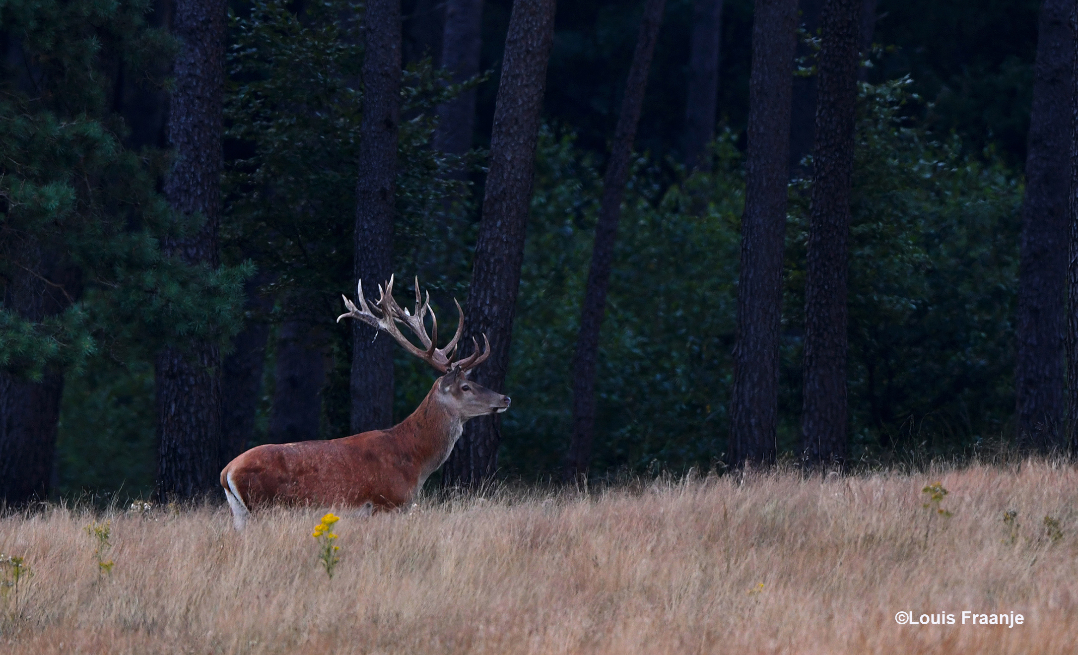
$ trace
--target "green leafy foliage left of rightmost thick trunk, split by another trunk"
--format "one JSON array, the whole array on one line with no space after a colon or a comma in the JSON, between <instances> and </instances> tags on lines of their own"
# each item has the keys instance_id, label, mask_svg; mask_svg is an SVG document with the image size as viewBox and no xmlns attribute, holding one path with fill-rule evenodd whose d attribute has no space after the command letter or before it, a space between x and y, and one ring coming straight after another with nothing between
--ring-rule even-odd
<instances>
[{"instance_id":1,"label":"green leafy foliage left of rightmost thick trunk, split by another trunk","mask_svg":"<svg viewBox=\"0 0 1078 655\"><path fill-rule=\"evenodd\" d=\"M849 401L863 458L998 441L1013 412L1022 186L999 158L963 154L903 119L909 79L865 85L849 235ZM984 162L987 162L985 164ZM784 321L804 321L807 185L791 211ZM800 336L786 359L800 361ZM800 412L790 366L786 415ZM794 418L796 421L796 418ZM787 426L787 442L797 423Z\"/></svg>"}]
</instances>

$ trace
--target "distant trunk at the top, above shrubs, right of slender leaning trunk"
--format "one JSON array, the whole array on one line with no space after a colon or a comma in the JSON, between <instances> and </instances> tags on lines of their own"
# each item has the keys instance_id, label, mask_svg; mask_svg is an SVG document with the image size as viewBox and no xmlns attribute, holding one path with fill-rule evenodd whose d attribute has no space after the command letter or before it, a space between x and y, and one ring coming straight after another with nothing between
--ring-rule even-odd
<instances>
[{"instance_id":1,"label":"distant trunk at the top, above shrubs, right of slender leaning trunk","mask_svg":"<svg viewBox=\"0 0 1078 655\"><path fill-rule=\"evenodd\" d=\"M722 43L722 0L695 0L689 58L689 97L685 112L685 165L711 169L708 143L715 138L719 98L719 52Z\"/></svg>"}]
</instances>

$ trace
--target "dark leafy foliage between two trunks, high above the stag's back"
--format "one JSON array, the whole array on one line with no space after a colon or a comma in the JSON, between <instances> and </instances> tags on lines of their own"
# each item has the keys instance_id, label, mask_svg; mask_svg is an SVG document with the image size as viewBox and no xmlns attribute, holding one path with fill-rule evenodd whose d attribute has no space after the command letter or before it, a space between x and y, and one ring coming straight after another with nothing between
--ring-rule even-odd
<instances>
[{"instance_id":1,"label":"dark leafy foliage between two trunks, high above the stag's back","mask_svg":"<svg viewBox=\"0 0 1078 655\"><path fill-rule=\"evenodd\" d=\"M351 269L361 95L356 29L313 3L309 22L271 0L232 14L224 178L226 248L277 274L278 287L328 290ZM351 5L337 2L340 12ZM346 274L347 273L347 274ZM342 276L344 279L342 280Z\"/></svg>"}]
</instances>

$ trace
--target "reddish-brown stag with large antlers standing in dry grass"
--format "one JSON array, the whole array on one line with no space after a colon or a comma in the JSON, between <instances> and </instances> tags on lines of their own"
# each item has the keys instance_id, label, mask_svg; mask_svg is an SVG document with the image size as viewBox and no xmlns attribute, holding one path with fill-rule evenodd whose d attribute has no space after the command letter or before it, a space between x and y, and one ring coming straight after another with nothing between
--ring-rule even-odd
<instances>
[{"instance_id":1,"label":"reddish-brown stag with large antlers standing in dry grass","mask_svg":"<svg viewBox=\"0 0 1078 655\"><path fill-rule=\"evenodd\" d=\"M438 348L438 319L430 308L430 293L420 301L415 282L415 310L401 309L393 301L393 280L379 298L368 306L362 284L357 284L357 308L347 297L347 313L388 333L412 354L443 375L434 380L427 398L412 416L388 430L372 430L343 438L295 444L266 444L241 454L221 471L221 486L232 508L233 524L241 530L250 511L271 504L343 505L364 513L406 507L423 483L450 457L465 421L509 408L509 396L495 393L468 379L469 372L490 354L472 339L472 354L453 361L464 332L464 312L457 303L457 332L444 348ZM455 302L455 301L454 301ZM430 313L432 336L425 319ZM412 344L397 323L407 325L424 348Z\"/></svg>"}]
</instances>

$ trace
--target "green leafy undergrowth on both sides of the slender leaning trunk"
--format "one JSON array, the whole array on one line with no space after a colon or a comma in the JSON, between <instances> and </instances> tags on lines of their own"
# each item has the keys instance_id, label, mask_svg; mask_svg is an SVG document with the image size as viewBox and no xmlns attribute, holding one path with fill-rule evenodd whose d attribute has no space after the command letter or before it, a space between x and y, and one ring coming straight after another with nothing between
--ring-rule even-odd
<instances>
[{"instance_id":1,"label":"green leafy undergrowth on both sides of the slender leaning trunk","mask_svg":"<svg viewBox=\"0 0 1078 655\"><path fill-rule=\"evenodd\" d=\"M636 162L614 249L596 378L595 471L683 469L721 455L744 183L733 135L715 173L667 189ZM554 474L571 433L572 356L602 178L544 130L521 281L499 465Z\"/></svg>"}]
</instances>

